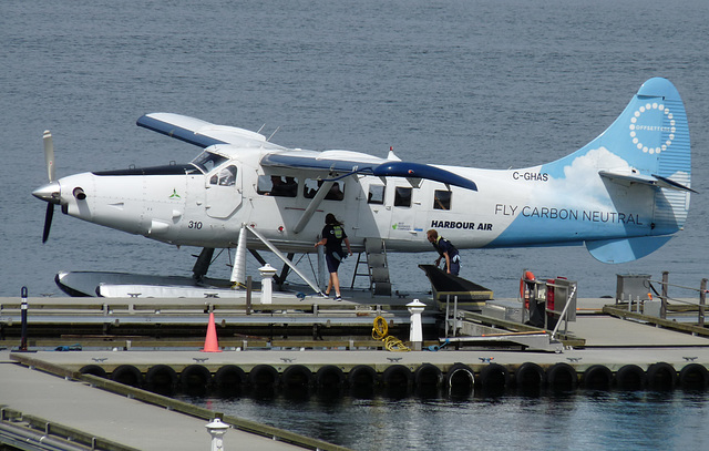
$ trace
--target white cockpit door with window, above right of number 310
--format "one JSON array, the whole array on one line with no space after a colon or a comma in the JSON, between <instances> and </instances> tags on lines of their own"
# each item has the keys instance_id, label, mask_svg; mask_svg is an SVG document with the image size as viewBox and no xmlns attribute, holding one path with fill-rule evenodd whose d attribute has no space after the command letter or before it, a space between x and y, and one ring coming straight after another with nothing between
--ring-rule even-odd
<instances>
[{"instance_id":1,"label":"white cockpit door with window, above right of number 310","mask_svg":"<svg viewBox=\"0 0 709 451\"><path fill-rule=\"evenodd\" d=\"M235 164L219 166L206 175L207 215L225 218L242 205L242 178Z\"/></svg>"}]
</instances>

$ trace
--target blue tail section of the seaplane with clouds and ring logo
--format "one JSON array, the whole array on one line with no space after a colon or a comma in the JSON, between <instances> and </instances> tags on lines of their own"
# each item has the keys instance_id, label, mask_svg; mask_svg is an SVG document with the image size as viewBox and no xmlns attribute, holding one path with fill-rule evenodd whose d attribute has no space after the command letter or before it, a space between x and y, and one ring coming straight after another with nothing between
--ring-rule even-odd
<instances>
[{"instance_id":1,"label":"blue tail section of the seaplane with clouds and ring logo","mask_svg":"<svg viewBox=\"0 0 709 451\"><path fill-rule=\"evenodd\" d=\"M599 136L524 173L534 177L521 214L490 247L585 243L606 263L648 255L682 228L689 211L689 126L677 89L646 81Z\"/></svg>"}]
</instances>

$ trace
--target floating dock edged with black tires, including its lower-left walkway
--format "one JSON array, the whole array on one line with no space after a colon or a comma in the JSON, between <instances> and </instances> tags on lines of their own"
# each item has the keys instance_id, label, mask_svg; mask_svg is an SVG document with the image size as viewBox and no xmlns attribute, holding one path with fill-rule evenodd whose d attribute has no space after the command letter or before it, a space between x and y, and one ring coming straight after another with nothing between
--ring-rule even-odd
<instances>
[{"instance_id":1,"label":"floating dock edged with black tires, including its lower-left walkway","mask_svg":"<svg viewBox=\"0 0 709 451\"><path fill-rule=\"evenodd\" d=\"M630 311L633 305L613 305L613 299L578 299L576 320L555 339L545 330L501 315L466 310L452 318L459 332L445 337L451 317L428 299L423 350L388 351L372 338L372 322L376 317L386 318L393 326L390 334L405 341L410 326L405 304L411 300L387 298L382 303L361 296L341 303L314 298L247 306L214 298L30 299L30 336L32 330L44 335L30 340L30 349L37 352L3 351L0 426L23 421L29 430L45 424L48 430L80 431L89 437L84 440L107 440L125 447L122 449L174 450L183 443L184 449L208 443L204 424L213 417L222 418L239 434L255 434L256 442L266 437L267 448L263 449L275 449L275 440L282 449L335 450L341 448L220 412L194 410L169 394L476 396L505 390L706 389L709 383L705 328L645 317ZM512 299L499 303L503 307L518 304ZM0 345L17 349L19 300L2 298L0 306L4 334ZM201 351L209 310L216 318L219 352ZM461 336L465 325L484 332ZM52 328L65 334L52 335L56 332ZM73 332L66 332L68 328ZM166 335L166 328L182 332ZM137 330L143 335L136 335ZM244 334L247 330L261 335ZM530 337L549 346L525 345ZM78 387L81 394L62 394ZM110 407L113 402L115 408ZM63 408L52 407L58 403ZM94 408L100 412L92 412ZM162 424L160 431L121 432L141 428L135 424L142 414L137 412L148 408L145 418ZM188 420L173 419L181 414ZM84 420L86 416L92 421ZM191 437L184 437L187 434ZM237 440L236 433L233 437ZM161 440L167 441L165 448L156 444ZM259 449L258 444L249 448Z\"/></svg>"}]
</instances>

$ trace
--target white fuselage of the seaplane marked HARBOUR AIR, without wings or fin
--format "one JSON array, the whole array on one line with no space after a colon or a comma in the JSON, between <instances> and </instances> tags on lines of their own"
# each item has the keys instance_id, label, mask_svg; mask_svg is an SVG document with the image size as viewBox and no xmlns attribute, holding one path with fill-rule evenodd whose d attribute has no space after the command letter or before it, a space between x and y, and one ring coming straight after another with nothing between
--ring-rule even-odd
<instances>
[{"instance_id":1,"label":"white fuselage of the seaplane marked HARBOUR AIR, without wings or fin","mask_svg":"<svg viewBox=\"0 0 709 451\"><path fill-rule=\"evenodd\" d=\"M327 213L345 223L354 250L363 249L364 238L384 239L391 250L429 250L425 232L430 228L459 248L485 247L495 239L501 239L495 247L580 244L597 237L651 232L653 205L647 201L651 196L643 192L649 187L638 186L637 196L626 196L626 202L613 205L608 195L582 198L587 191L583 185L576 194L555 191L540 167L444 167L474 180L479 191L449 191L443 183L428 180L414 181L412 186L403 177L382 181L372 175L351 175L340 181L341 199L322 199L296 233L296 224L312 201L306 192L308 186L317 186L316 180L311 172L297 170L265 173L259 157L257 151L239 151L238 157L229 157L206 174L196 170L152 174L150 168L145 175L78 174L59 181L61 203L71 216L174 245L234 247L242 224L248 224L281 250L301 253L314 250ZM236 170L234 183L220 183L219 174L229 166ZM270 195L259 188L274 175L297 182L294 197ZM327 176L322 174L322 178ZM84 191L85 199L72 195L75 187ZM518 217L538 219L534 223L543 226L535 234L501 237ZM249 247L261 246L250 237Z\"/></svg>"}]
</instances>

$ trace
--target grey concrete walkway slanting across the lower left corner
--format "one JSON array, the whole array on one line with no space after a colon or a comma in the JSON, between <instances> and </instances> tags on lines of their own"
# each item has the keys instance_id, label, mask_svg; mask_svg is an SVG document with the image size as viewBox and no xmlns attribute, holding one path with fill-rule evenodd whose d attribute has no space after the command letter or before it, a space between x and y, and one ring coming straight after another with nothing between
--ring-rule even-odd
<instances>
[{"instance_id":1,"label":"grey concrete walkway slanting across the lower left corner","mask_svg":"<svg viewBox=\"0 0 709 451\"><path fill-rule=\"evenodd\" d=\"M29 369L11 361L7 350L0 351L0 404L22 416L136 450L209 449L210 437L205 428L209 421ZM238 430L227 432L225 443L229 442L249 450L299 448Z\"/></svg>"}]
</instances>

